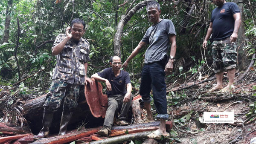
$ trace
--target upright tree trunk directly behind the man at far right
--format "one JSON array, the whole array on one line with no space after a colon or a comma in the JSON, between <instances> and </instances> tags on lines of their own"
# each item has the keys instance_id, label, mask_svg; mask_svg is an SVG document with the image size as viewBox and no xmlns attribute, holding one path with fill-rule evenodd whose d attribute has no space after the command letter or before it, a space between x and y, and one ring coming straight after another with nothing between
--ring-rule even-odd
<instances>
[{"instance_id":1,"label":"upright tree trunk directly behind the man at far right","mask_svg":"<svg viewBox=\"0 0 256 144\"><path fill-rule=\"evenodd\" d=\"M239 27L238 30L238 38L236 40L237 42L237 47L238 47L238 66L240 70L246 69L249 60L246 57L246 52L243 51L244 43L242 43L245 40L244 36L244 0L234 0L234 2L238 5L240 14L241 14L241 26ZM240 46L241 45L241 46Z\"/></svg>"}]
</instances>

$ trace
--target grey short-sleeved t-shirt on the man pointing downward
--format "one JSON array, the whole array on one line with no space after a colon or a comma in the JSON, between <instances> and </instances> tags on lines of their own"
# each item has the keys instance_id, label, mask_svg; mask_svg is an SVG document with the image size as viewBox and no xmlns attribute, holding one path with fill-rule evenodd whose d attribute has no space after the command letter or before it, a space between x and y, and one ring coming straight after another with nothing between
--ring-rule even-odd
<instances>
[{"instance_id":1,"label":"grey short-sleeved t-shirt on the man pointing downward","mask_svg":"<svg viewBox=\"0 0 256 144\"><path fill-rule=\"evenodd\" d=\"M145 53L145 63L160 61L169 49L169 34L175 34L172 20L163 19L159 23L148 28L141 41L148 43L149 47Z\"/></svg>"}]
</instances>

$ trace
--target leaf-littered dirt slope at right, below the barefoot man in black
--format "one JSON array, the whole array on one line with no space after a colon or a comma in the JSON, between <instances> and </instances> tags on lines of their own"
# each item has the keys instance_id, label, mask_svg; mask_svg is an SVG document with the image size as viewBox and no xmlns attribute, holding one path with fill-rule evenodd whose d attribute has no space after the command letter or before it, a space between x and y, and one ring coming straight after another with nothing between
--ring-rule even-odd
<instances>
[{"instance_id":1,"label":"leaf-littered dirt slope at right, below the barefoot man in black","mask_svg":"<svg viewBox=\"0 0 256 144\"><path fill-rule=\"evenodd\" d=\"M196 81L186 81L180 86L169 84L168 100L172 101L169 102L169 112L175 122L170 133L174 144L250 144L250 139L256 137L255 70L251 68L242 79L241 75L242 73L237 73L235 90L232 92L208 92L216 84L216 79L198 84L207 79L206 75L199 77L201 80L196 78ZM226 86L226 73L223 80ZM194 84L196 86L190 87ZM175 93L175 89L179 92ZM175 98L178 100L174 100ZM178 103L172 105L174 101ZM234 112L234 123L203 124L203 112Z\"/></svg>"}]
</instances>

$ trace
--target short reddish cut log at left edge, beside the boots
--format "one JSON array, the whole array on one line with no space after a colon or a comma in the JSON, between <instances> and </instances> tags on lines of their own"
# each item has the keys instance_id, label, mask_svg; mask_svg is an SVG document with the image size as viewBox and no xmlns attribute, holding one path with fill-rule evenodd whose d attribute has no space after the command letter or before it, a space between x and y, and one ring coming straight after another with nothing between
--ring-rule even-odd
<instances>
[{"instance_id":1,"label":"short reddish cut log at left edge, beside the boots","mask_svg":"<svg viewBox=\"0 0 256 144\"><path fill-rule=\"evenodd\" d=\"M17 124L0 123L0 132L4 135L17 135L31 133L31 130L27 126L21 127Z\"/></svg>"}]
</instances>

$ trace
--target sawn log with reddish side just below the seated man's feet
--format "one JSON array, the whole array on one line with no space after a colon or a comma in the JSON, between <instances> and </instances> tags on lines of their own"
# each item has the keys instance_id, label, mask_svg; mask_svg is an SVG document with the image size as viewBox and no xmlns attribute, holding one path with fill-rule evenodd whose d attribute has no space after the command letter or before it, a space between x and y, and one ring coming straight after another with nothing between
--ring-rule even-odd
<instances>
[{"instance_id":1,"label":"sawn log with reddish side just below the seated man's feet","mask_svg":"<svg viewBox=\"0 0 256 144\"><path fill-rule=\"evenodd\" d=\"M166 128L169 128L169 123L166 123ZM157 130L159 128L160 121L154 121L150 123L144 124L131 124L128 126L119 126L119 127L112 127L110 137L118 136L118 135L125 135L137 132L145 132L151 130Z\"/></svg>"}]
</instances>

